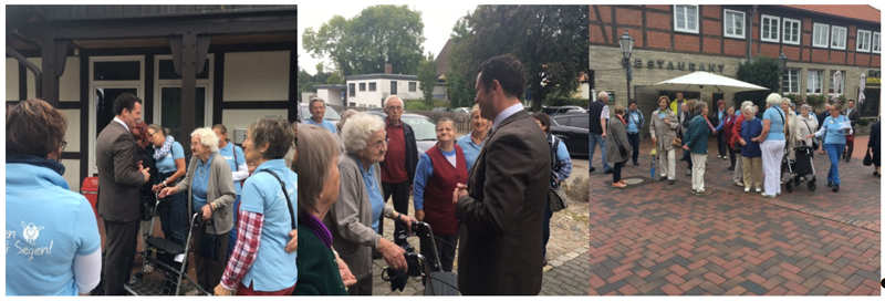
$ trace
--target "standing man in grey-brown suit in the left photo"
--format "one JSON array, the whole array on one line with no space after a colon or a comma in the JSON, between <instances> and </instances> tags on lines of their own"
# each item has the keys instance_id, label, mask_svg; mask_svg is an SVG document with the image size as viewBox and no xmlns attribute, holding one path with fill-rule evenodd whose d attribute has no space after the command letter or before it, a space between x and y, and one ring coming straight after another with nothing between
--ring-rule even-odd
<instances>
[{"instance_id":1,"label":"standing man in grey-brown suit in the left photo","mask_svg":"<svg viewBox=\"0 0 885 301\"><path fill-rule=\"evenodd\" d=\"M142 120L142 100L121 94L114 101L114 120L95 141L98 165L98 215L104 219L105 263L104 292L124 294L123 284L132 272L137 245L140 212L138 196L142 185L150 178L150 168L137 162L137 144L129 133Z\"/></svg>"}]
</instances>

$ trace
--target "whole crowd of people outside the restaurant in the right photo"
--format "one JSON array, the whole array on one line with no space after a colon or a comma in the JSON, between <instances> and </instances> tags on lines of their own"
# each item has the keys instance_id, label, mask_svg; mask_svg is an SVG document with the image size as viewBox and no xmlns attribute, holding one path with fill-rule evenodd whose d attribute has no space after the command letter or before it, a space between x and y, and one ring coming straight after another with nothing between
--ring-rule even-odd
<instances>
[{"instance_id":1,"label":"whole crowd of people outside the restaurant in the right photo","mask_svg":"<svg viewBox=\"0 0 885 301\"><path fill-rule=\"evenodd\" d=\"M647 123L659 165L659 180L667 180L670 185L675 183L676 149L681 148L680 160L688 164L686 176L691 177L691 190L700 196L710 194L704 178L711 152L718 153L719 159L730 159L728 170L732 172L736 186L743 187L747 193L754 188L763 197L775 198L782 194L783 184L811 179L811 175L791 174L782 165L784 158L795 164L796 153L805 152L805 146L827 156L830 169L826 186L834 193L839 191L839 164L840 160L851 162L854 131L861 118L853 100L846 102L845 111L842 111L841 103L835 102L826 103L824 111L815 114L811 105L793 103L777 93L766 98L764 111L760 111L751 101L742 102L739 107L729 107L719 100L716 102L717 108L711 112L706 102L685 100L683 93L677 92L674 101L666 95L660 96L657 100L658 108L648 120L636 110L634 100L629 101L626 111L615 105L613 116L608 115L607 102L608 94L601 92L597 101L590 106L590 160L592 165L594 148L598 144L605 174L612 174L613 177L612 187L627 187L621 172L631 159L631 150L633 164L639 165L638 135ZM873 132L879 131L879 126L876 122ZM707 147L711 137L716 139L717 149ZM876 177L881 177L879 144L878 132L871 133L867 153L872 165L875 165L873 176ZM594 170L591 166L590 172Z\"/></svg>"}]
</instances>

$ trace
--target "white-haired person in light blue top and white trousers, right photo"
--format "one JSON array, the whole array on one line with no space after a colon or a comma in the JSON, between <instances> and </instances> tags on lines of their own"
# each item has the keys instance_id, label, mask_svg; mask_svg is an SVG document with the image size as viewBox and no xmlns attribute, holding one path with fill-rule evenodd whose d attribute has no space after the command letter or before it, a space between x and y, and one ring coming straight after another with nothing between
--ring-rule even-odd
<instances>
[{"instance_id":1,"label":"white-haired person in light blue top and white trousers, right photo","mask_svg":"<svg viewBox=\"0 0 885 301\"><path fill-rule=\"evenodd\" d=\"M762 172L766 174L763 197L774 198L781 194L781 157L787 146L784 125L787 114L781 110L781 96L771 93L766 98L769 108L762 114L762 133L752 141L760 143Z\"/></svg>"}]
</instances>

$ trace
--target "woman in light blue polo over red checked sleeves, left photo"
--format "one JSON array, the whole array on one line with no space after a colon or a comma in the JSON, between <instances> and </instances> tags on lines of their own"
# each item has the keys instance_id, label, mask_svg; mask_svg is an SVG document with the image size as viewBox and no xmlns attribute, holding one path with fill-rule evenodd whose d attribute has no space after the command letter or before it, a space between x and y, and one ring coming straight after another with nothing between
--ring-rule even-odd
<instances>
[{"instance_id":1,"label":"woman in light blue polo over red checked sleeves, left photo","mask_svg":"<svg viewBox=\"0 0 885 301\"><path fill-rule=\"evenodd\" d=\"M283 160L292 134L281 118L260 118L247 131L246 160L258 167L242 187L240 235L216 295L290 295L295 289L298 252L285 246L298 222L298 175Z\"/></svg>"}]
</instances>

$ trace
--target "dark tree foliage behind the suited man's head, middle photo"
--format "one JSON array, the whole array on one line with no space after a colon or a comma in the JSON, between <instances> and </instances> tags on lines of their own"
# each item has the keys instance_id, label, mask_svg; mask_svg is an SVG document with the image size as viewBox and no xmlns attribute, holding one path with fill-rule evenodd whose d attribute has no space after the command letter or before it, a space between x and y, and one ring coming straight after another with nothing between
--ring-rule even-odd
<instances>
[{"instance_id":1,"label":"dark tree foliage behind the suited man's head, middle photo","mask_svg":"<svg viewBox=\"0 0 885 301\"><path fill-rule=\"evenodd\" d=\"M577 89L579 73L589 69L589 12L586 6L480 6L452 28L450 68L472 90L482 61L512 55L538 111L548 94Z\"/></svg>"}]
</instances>

